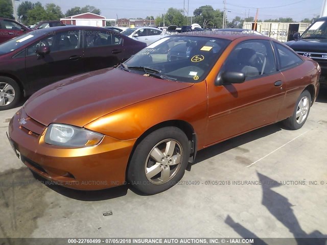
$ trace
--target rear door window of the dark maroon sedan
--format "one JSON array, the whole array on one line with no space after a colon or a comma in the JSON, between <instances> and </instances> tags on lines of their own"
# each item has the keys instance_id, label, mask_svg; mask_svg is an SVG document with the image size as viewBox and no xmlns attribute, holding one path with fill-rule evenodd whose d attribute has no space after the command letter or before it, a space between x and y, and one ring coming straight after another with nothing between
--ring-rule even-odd
<instances>
[{"instance_id":1,"label":"rear door window of the dark maroon sedan","mask_svg":"<svg viewBox=\"0 0 327 245\"><path fill-rule=\"evenodd\" d=\"M84 31L86 47L119 45L122 38L116 32Z\"/></svg>"}]
</instances>

